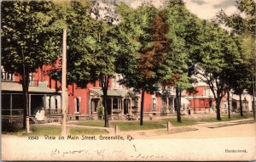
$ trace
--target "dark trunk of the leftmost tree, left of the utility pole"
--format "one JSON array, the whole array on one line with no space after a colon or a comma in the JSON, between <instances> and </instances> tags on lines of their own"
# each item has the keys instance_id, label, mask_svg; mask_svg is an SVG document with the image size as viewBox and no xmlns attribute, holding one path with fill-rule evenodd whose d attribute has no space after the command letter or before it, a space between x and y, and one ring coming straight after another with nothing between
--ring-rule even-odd
<instances>
[{"instance_id":1,"label":"dark trunk of the leftmost tree, left of the utility pole","mask_svg":"<svg viewBox=\"0 0 256 162\"><path fill-rule=\"evenodd\" d=\"M27 120L26 120L26 116L29 116L28 87L29 87L29 72L24 68L23 75L22 75L22 91L23 91L23 105L24 105L23 129L26 129L26 133L29 132L29 128L28 128L29 123L27 123Z\"/></svg>"}]
</instances>

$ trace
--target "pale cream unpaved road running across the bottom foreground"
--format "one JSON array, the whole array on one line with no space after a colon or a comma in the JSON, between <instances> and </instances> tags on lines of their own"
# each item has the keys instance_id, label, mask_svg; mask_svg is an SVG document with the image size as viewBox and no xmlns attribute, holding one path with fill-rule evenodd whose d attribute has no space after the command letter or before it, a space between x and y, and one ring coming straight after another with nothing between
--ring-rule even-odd
<instances>
[{"instance_id":1,"label":"pale cream unpaved road running across the bottom foreground","mask_svg":"<svg viewBox=\"0 0 256 162\"><path fill-rule=\"evenodd\" d=\"M256 126L219 128L192 126L198 131L157 135L154 131L119 132L124 140L28 140L2 137L2 159L19 160L253 160ZM127 136L134 138L127 139ZM113 134L107 137L112 137Z\"/></svg>"}]
</instances>

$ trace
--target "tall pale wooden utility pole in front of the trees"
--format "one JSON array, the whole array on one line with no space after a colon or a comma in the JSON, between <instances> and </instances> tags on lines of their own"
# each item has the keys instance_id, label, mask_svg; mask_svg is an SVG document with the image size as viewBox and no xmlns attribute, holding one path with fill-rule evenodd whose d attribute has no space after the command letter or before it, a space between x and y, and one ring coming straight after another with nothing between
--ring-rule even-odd
<instances>
[{"instance_id":1,"label":"tall pale wooden utility pole in front of the trees","mask_svg":"<svg viewBox=\"0 0 256 162\"><path fill-rule=\"evenodd\" d=\"M62 77L61 77L61 136L66 137L67 118L67 29L63 29L62 42Z\"/></svg>"}]
</instances>

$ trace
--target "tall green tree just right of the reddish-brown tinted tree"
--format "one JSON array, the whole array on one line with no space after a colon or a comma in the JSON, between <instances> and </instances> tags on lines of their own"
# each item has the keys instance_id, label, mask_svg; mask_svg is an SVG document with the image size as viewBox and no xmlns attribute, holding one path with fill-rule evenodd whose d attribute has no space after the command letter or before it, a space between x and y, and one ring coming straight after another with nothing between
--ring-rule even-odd
<instances>
[{"instance_id":1,"label":"tall green tree just right of the reddish-brown tinted tree","mask_svg":"<svg viewBox=\"0 0 256 162\"><path fill-rule=\"evenodd\" d=\"M164 87L176 88L176 110L177 121L181 122L181 92L183 89L191 88L191 78L189 78L189 64L192 60L189 58L192 51L196 35L199 35L198 19L189 13L185 8L183 1L172 0L165 8L168 17L167 24L170 28L167 33L171 40L172 53L166 56L163 71L167 74L163 79Z\"/></svg>"}]
</instances>

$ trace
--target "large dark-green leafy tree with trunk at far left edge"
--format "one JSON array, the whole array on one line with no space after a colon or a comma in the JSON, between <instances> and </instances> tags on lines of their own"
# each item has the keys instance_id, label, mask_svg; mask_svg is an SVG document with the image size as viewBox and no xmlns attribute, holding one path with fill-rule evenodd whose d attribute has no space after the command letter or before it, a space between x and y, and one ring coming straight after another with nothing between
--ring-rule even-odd
<instances>
[{"instance_id":1,"label":"large dark-green leafy tree with trunk at far left edge","mask_svg":"<svg viewBox=\"0 0 256 162\"><path fill-rule=\"evenodd\" d=\"M53 6L49 1L3 1L1 5L2 64L6 71L21 75L24 128L28 115L29 74L44 64L53 63L60 53L61 42L55 41L60 36L46 30L55 21L49 14Z\"/></svg>"}]
</instances>

